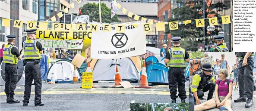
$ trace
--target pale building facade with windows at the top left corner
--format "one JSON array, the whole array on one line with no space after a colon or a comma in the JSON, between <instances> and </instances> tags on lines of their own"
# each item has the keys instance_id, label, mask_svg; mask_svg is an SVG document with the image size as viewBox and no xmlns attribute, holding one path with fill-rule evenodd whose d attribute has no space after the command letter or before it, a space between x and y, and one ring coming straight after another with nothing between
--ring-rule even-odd
<instances>
[{"instance_id":1,"label":"pale building facade with windows at the top left corner","mask_svg":"<svg viewBox=\"0 0 256 111\"><path fill-rule=\"evenodd\" d=\"M15 46L22 49L22 42L25 37L22 32L27 28L27 21L38 20L38 0L0 0L0 46L7 44L6 35L16 35ZM2 26L3 19L12 19L10 27ZM22 28L14 28L14 20L23 21Z\"/></svg>"}]
</instances>

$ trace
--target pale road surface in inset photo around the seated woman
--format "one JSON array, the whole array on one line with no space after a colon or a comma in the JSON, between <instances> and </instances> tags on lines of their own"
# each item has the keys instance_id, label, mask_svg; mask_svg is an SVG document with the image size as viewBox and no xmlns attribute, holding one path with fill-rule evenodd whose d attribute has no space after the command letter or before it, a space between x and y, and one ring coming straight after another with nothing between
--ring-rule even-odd
<instances>
[{"instance_id":1,"label":"pale road surface in inset photo around the seated woman","mask_svg":"<svg viewBox=\"0 0 256 111\"><path fill-rule=\"evenodd\" d=\"M208 92L204 93L205 96L203 97L205 100L200 100L200 102L205 102L207 99L207 95ZM256 111L256 95L255 95L255 91L254 91L254 95L253 95L253 103L254 105L250 108L245 108L245 103L246 102L234 102L235 99L239 98L239 90L234 90L234 86L233 86L233 94L232 94L232 109L233 111ZM213 94L213 98L215 98L214 94ZM206 111L219 111L219 108L212 108L210 110L206 110Z\"/></svg>"}]
</instances>

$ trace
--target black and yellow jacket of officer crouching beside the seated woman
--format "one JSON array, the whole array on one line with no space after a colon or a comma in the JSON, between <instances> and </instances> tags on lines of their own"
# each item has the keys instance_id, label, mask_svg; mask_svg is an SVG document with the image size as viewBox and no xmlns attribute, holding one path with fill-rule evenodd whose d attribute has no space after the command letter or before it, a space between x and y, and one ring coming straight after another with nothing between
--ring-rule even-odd
<instances>
[{"instance_id":1,"label":"black and yellow jacket of officer crouching beside the seated woman","mask_svg":"<svg viewBox=\"0 0 256 111\"><path fill-rule=\"evenodd\" d=\"M203 89L208 82L215 83L214 77L212 75L206 76L202 71L196 72L193 76L192 84L191 84L191 91L196 92L197 89Z\"/></svg>"}]
</instances>

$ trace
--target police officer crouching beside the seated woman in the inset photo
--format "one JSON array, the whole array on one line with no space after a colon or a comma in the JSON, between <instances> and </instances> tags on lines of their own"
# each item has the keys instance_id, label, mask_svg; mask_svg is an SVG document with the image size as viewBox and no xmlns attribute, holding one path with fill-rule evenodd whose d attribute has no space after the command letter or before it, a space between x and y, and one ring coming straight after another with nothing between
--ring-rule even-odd
<instances>
[{"instance_id":1,"label":"police officer crouching beside the seated woman in the inset photo","mask_svg":"<svg viewBox=\"0 0 256 111\"><path fill-rule=\"evenodd\" d=\"M204 63L201 68L202 71L196 72L193 76L191 91L194 94L196 105L200 104L200 100L204 96L204 93L209 91L207 100L212 99L215 89L215 79L211 73L214 71L210 63Z\"/></svg>"}]
</instances>

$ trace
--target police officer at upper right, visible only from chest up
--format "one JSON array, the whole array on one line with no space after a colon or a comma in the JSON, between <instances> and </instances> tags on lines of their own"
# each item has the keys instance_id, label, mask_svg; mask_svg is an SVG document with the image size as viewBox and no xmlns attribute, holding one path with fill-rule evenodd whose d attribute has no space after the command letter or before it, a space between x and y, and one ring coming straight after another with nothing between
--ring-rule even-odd
<instances>
[{"instance_id":1,"label":"police officer at upper right, visible only from chest up","mask_svg":"<svg viewBox=\"0 0 256 111\"><path fill-rule=\"evenodd\" d=\"M228 47L226 45L223 45L223 35L217 35L214 37L214 39L217 44L216 48L214 49L214 52L229 52Z\"/></svg>"}]
</instances>

